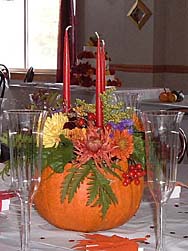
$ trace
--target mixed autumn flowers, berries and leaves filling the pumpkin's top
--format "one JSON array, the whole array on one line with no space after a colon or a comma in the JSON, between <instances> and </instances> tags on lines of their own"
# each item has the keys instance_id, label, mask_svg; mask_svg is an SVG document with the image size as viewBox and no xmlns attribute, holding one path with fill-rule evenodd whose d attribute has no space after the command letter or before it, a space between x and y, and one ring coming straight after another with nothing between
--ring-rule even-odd
<instances>
[{"instance_id":1,"label":"mixed autumn flowers, berries and leaves filling the pumpkin's top","mask_svg":"<svg viewBox=\"0 0 188 251\"><path fill-rule=\"evenodd\" d=\"M139 185L144 176L144 142L141 123L134 115L123 110L124 104L112 104L112 92L108 89L101 95L104 127L96 126L95 105L76 100L68 113L61 108L58 94L33 94L32 108L49 110L43 133L43 168L51 166L62 173L72 163L62 184L61 200L73 199L80 184L89 177L88 205L100 206L103 217L117 199L105 174L122 180L124 186L131 182ZM55 103L55 106L53 106ZM120 161L128 162L128 171L121 171ZM116 170L120 170L121 175Z\"/></svg>"}]
</instances>

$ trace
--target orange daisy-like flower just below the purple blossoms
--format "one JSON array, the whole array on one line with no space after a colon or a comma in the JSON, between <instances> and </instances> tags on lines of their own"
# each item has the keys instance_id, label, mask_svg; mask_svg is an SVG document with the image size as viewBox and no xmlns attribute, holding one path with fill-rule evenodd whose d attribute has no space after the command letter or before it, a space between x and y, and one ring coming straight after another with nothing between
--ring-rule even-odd
<instances>
[{"instance_id":1,"label":"orange daisy-like flower just below the purple blossoms","mask_svg":"<svg viewBox=\"0 0 188 251\"><path fill-rule=\"evenodd\" d=\"M115 130L113 133L112 157L126 161L133 153L133 135L127 129L123 131Z\"/></svg>"}]
</instances>

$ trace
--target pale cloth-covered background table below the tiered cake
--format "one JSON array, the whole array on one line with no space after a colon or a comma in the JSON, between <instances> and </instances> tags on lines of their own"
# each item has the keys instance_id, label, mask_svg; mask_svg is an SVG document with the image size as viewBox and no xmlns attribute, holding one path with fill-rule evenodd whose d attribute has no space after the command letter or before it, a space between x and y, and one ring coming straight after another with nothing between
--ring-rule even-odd
<instances>
[{"instance_id":1,"label":"pale cloth-covered background table below the tiered cake","mask_svg":"<svg viewBox=\"0 0 188 251\"><path fill-rule=\"evenodd\" d=\"M59 92L62 94L62 83L24 83L21 81L11 81L10 86L6 89L5 97L8 99L6 108L23 108L30 103L30 94L39 89L48 92ZM108 87L110 88L110 87ZM142 99L156 99L163 88L126 88L118 87L117 92L136 92L140 93ZM20 99L21 97L21 99ZM75 100L79 98L85 100L87 103L95 102L95 87L82 87L71 85L71 103L74 105Z\"/></svg>"}]
</instances>

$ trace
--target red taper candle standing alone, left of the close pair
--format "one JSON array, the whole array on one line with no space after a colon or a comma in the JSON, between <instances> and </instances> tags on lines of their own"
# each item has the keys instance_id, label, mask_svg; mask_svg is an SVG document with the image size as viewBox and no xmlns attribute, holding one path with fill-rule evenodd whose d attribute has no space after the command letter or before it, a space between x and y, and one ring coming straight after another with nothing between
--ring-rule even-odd
<instances>
[{"instance_id":1,"label":"red taper candle standing alone, left of the close pair","mask_svg":"<svg viewBox=\"0 0 188 251\"><path fill-rule=\"evenodd\" d=\"M71 104L70 97L70 54L69 54L69 37L68 29L71 28L69 25L65 29L64 35L64 52L63 52L63 100L65 103L65 112L68 112Z\"/></svg>"}]
</instances>

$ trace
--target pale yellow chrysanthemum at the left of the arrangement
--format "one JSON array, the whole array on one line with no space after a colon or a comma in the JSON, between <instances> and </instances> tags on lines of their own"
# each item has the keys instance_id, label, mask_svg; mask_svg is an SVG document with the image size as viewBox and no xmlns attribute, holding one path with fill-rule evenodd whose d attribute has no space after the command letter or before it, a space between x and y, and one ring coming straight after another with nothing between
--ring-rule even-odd
<instances>
[{"instance_id":1,"label":"pale yellow chrysanthemum at the left of the arrangement","mask_svg":"<svg viewBox=\"0 0 188 251\"><path fill-rule=\"evenodd\" d=\"M68 122L68 117L62 112L54 113L46 119L43 131L43 145L45 148L57 147L60 142L59 136L68 134L68 129L63 129L66 122Z\"/></svg>"}]
</instances>

